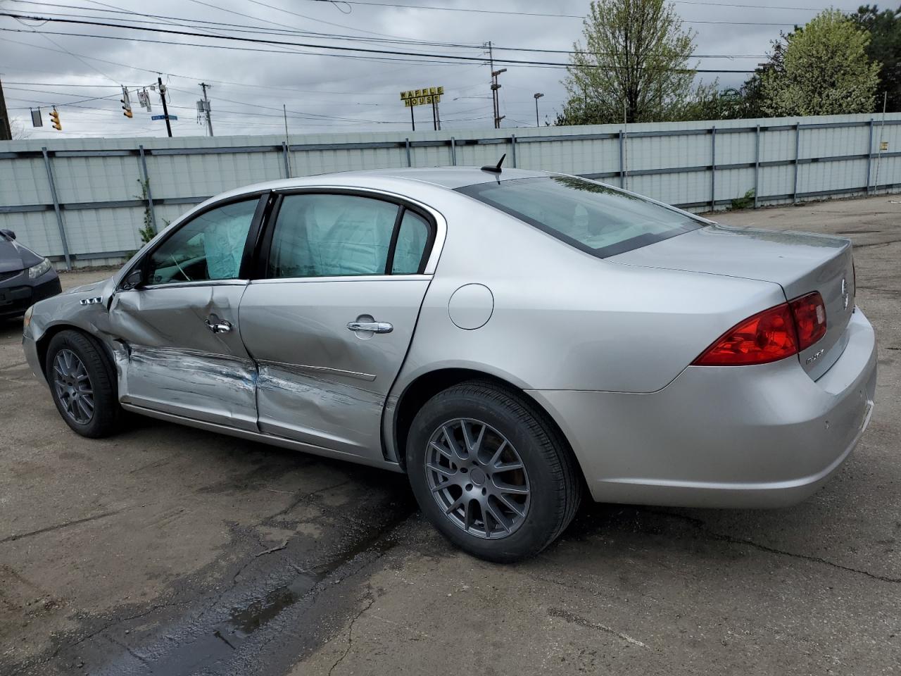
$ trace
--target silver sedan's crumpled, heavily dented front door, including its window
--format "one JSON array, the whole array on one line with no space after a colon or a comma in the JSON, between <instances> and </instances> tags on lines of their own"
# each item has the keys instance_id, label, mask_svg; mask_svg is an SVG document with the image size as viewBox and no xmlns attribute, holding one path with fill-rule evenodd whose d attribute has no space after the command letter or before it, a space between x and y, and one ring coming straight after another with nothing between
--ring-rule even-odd
<instances>
[{"instance_id":1,"label":"silver sedan's crumpled, heavily dented front door, including its window","mask_svg":"<svg viewBox=\"0 0 901 676\"><path fill-rule=\"evenodd\" d=\"M265 210L252 196L181 224L110 306L123 403L257 429L257 369L241 342L245 248Z\"/></svg>"}]
</instances>

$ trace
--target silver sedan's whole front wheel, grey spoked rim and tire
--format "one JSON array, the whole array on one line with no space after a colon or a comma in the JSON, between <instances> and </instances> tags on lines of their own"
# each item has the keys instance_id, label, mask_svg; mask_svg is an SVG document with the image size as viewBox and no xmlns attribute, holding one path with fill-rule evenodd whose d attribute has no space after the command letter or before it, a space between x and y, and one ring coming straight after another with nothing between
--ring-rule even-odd
<instances>
[{"instance_id":1,"label":"silver sedan's whole front wheel, grey spoked rim and tire","mask_svg":"<svg viewBox=\"0 0 901 676\"><path fill-rule=\"evenodd\" d=\"M59 415L78 434L113 434L122 417L115 368L103 346L84 333L61 331L50 340L45 372Z\"/></svg>"}]
</instances>

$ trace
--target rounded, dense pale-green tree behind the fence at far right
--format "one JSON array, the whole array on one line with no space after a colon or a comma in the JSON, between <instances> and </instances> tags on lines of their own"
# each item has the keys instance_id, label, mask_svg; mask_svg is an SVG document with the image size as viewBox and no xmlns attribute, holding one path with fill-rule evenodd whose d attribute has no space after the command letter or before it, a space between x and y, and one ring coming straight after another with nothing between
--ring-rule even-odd
<instances>
[{"instance_id":1,"label":"rounded, dense pale-green tree behind the fence at far right","mask_svg":"<svg viewBox=\"0 0 901 676\"><path fill-rule=\"evenodd\" d=\"M869 60L869 32L838 10L824 10L774 45L760 82L769 115L869 113L880 65Z\"/></svg>"}]
</instances>

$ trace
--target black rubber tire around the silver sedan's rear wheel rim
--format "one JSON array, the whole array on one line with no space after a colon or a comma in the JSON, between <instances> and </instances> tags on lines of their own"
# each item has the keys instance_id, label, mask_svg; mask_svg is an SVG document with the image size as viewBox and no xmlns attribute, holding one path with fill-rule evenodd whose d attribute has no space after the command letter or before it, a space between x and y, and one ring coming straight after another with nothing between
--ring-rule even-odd
<instances>
[{"instance_id":1,"label":"black rubber tire around the silver sedan's rear wheel rim","mask_svg":"<svg viewBox=\"0 0 901 676\"><path fill-rule=\"evenodd\" d=\"M466 525L445 514L443 507L447 503L440 505L441 498L435 498L429 483L430 472L432 477L442 475L436 475L426 467L430 441L435 438L433 434L441 434L442 425L460 419L474 423L476 426L472 429L476 431L478 424L490 425L494 428L492 432L502 435L514 446L522 461L530 490L529 502L519 525L514 526L510 534L502 533L495 538L488 528L482 529L483 534L472 534ZM434 457L437 456L432 452ZM450 460L447 462L451 463ZM515 562L541 552L572 521L582 497L582 480L576 461L541 409L521 393L489 381L467 381L443 390L426 402L410 428L406 463L416 501L432 525L460 549L492 562ZM473 467L475 463L470 466L470 477L475 471ZM460 467L460 471L465 470ZM479 479L487 485L491 476L488 474L485 480L480 474ZM516 517L514 513L510 514ZM496 519L490 521L491 525L497 523ZM485 531L489 533L488 537L484 535Z\"/></svg>"}]
</instances>

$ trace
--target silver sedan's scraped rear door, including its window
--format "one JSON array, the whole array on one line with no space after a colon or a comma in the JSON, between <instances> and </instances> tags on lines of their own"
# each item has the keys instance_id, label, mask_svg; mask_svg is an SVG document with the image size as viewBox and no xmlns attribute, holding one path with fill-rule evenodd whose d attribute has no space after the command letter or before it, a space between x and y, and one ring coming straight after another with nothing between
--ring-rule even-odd
<instances>
[{"instance_id":1,"label":"silver sedan's scraped rear door, including its window","mask_svg":"<svg viewBox=\"0 0 901 676\"><path fill-rule=\"evenodd\" d=\"M241 300L259 429L380 459L381 416L423 297L433 224L375 196L281 198Z\"/></svg>"}]
</instances>

